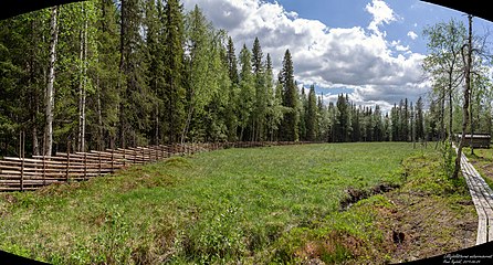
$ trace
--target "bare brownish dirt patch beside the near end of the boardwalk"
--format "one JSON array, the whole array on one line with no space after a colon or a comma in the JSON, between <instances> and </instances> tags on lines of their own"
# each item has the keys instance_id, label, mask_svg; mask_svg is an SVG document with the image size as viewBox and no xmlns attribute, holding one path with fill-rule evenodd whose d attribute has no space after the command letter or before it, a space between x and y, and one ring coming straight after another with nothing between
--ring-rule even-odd
<instances>
[{"instance_id":1,"label":"bare brownish dirt patch beside the near end of the boardwalk","mask_svg":"<svg viewBox=\"0 0 493 265\"><path fill-rule=\"evenodd\" d=\"M379 211L391 262L409 262L474 246L478 220L471 203L447 204L441 198L389 192L395 208ZM464 214L466 213L466 214Z\"/></svg>"}]
</instances>

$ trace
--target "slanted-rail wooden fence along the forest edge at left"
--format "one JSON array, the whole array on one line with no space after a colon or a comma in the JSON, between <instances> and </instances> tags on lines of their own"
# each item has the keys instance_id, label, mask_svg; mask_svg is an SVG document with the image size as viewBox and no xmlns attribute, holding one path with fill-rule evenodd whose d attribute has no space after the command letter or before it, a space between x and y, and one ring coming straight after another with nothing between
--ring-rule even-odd
<instances>
[{"instance_id":1,"label":"slanted-rail wooden fence along the forest edge at left","mask_svg":"<svg viewBox=\"0 0 493 265\"><path fill-rule=\"evenodd\" d=\"M112 173L133 165L162 160L171 156L186 156L222 148L283 146L306 142L214 142L171 146L149 146L126 149L107 149L32 158L4 157L0 159L0 191L28 191L69 181L83 181Z\"/></svg>"}]
</instances>

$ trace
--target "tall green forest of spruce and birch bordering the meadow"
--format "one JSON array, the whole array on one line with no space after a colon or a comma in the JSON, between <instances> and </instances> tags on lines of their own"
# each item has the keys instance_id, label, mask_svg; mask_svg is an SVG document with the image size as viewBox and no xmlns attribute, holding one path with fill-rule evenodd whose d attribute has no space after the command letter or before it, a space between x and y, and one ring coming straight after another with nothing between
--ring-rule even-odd
<instances>
[{"instance_id":1,"label":"tall green forest of spruce and birch bordering the meadow","mask_svg":"<svg viewBox=\"0 0 493 265\"><path fill-rule=\"evenodd\" d=\"M343 94L324 102L315 85L297 84L290 50L273 59L262 40L233 43L179 0L92 0L18 15L0 21L0 156L19 156L21 139L28 156L175 142L443 140L461 130L464 63L454 45L466 29L452 20L423 34L432 89L384 113ZM492 130L484 63L474 56L474 132Z\"/></svg>"}]
</instances>

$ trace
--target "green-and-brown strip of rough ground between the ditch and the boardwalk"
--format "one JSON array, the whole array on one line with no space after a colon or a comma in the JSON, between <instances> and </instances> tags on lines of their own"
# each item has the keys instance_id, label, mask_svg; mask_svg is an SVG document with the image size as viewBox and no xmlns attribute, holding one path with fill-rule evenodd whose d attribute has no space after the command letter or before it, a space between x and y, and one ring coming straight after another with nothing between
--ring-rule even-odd
<instances>
[{"instance_id":1,"label":"green-and-brown strip of rough ground between the ditch and the boardwalk","mask_svg":"<svg viewBox=\"0 0 493 265\"><path fill-rule=\"evenodd\" d=\"M403 232L406 240L391 250L392 263L413 261L474 246L478 215L465 180L449 179L441 155L428 152L403 161L408 181L386 198L381 230ZM381 221L385 220L385 221Z\"/></svg>"}]
</instances>

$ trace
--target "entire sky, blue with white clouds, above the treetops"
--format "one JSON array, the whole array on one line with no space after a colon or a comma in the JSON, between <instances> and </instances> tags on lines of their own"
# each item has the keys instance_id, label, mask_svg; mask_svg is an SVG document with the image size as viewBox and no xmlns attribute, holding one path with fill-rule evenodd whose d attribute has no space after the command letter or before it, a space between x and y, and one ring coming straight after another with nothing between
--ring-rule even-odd
<instances>
[{"instance_id":1,"label":"entire sky, blue with white clouds, above the treetops","mask_svg":"<svg viewBox=\"0 0 493 265\"><path fill-rule=\"evenodd\" d=\"M182 0L196 4L233 39L237 53L259 38L280 71L286 49L300 86L314 84L324 102L348 94L357 105L388 112L400 99L427 98L421 70L428 25L466 17L418 0ZM474 19L474 29L491 22Z\"/></svg>"}]
</instances>

